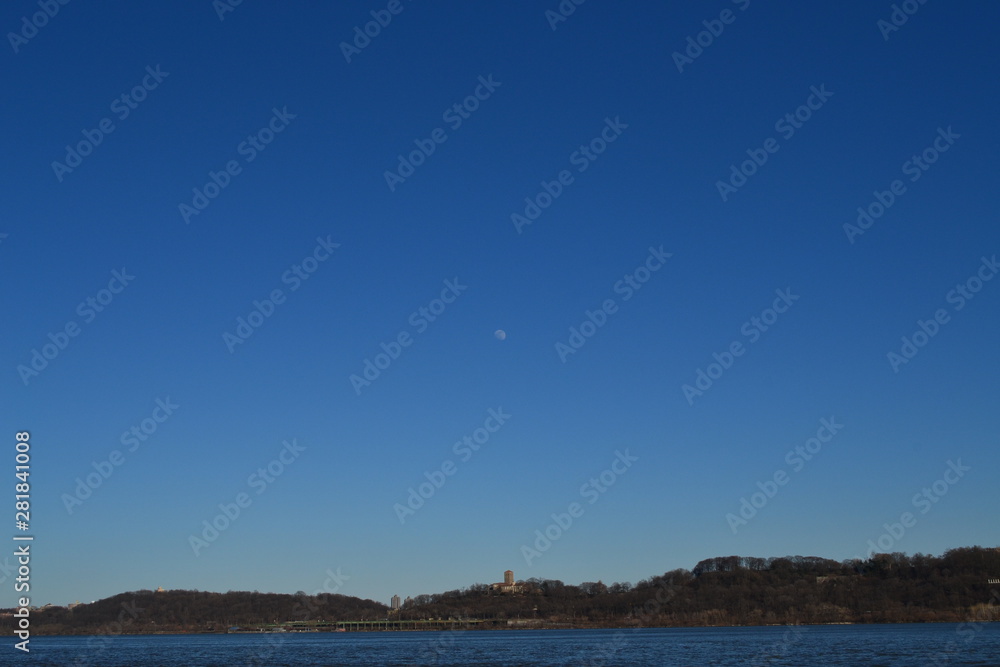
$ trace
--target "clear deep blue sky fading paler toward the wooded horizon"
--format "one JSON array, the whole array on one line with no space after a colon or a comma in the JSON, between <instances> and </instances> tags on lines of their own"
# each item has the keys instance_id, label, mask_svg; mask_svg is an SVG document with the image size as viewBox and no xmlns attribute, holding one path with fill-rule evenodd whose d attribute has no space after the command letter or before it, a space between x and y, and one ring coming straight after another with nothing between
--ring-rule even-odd
<instances>
[{"instance_id":1,"label":"clear deep blue sky fading paler toward the wooded horizon","mask_svg":"<svg viewBox=\"0 0 1000 667\"><path fill-rule=\"evenodd\" d=\"M996 545L1000 16L903 4L6 5L32 603Z\"/></svg>"}]
</instances>

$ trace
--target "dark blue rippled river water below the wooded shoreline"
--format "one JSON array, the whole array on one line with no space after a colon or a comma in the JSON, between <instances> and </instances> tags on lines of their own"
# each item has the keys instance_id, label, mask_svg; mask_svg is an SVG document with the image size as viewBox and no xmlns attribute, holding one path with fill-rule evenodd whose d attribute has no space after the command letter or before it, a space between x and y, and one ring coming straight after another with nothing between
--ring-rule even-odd
<instances>
[{"instance_id":1,"label":"dark blue rippled river water below the wooded shoreline","mask_svg":"<svg viewBox=\"0 0 1000 667\"><path fill-rule=\"evenodd\" d=\"M1000 665L1000 623L37 637L2 665Z\"/></svg>"}]
</instances>

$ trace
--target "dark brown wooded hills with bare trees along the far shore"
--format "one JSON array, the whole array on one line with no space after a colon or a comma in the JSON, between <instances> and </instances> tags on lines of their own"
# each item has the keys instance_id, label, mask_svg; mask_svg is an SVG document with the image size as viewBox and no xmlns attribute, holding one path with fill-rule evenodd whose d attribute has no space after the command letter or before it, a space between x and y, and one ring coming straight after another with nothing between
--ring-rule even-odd
<instances>
[{"instance_id":1,"label":"dark brown wooded hills with bare trees along the far shore","mask_svg":"<svg viewBox=\"0 0 1000 667\"><path fill-rule=\"evenodd\" d=\"M707 626L1000 620L1000 549L942 556L877 554L837 562L789 556L710 558L636 583L519 582L418 595L398 612L344 595L136 591L70 610L32 612L33 634L225 632L288 621L486 619L486 627ZM12 610L4 610L10 612ZM0 617L10 633L13 618Z\"/></svg>"}]
</instances>

